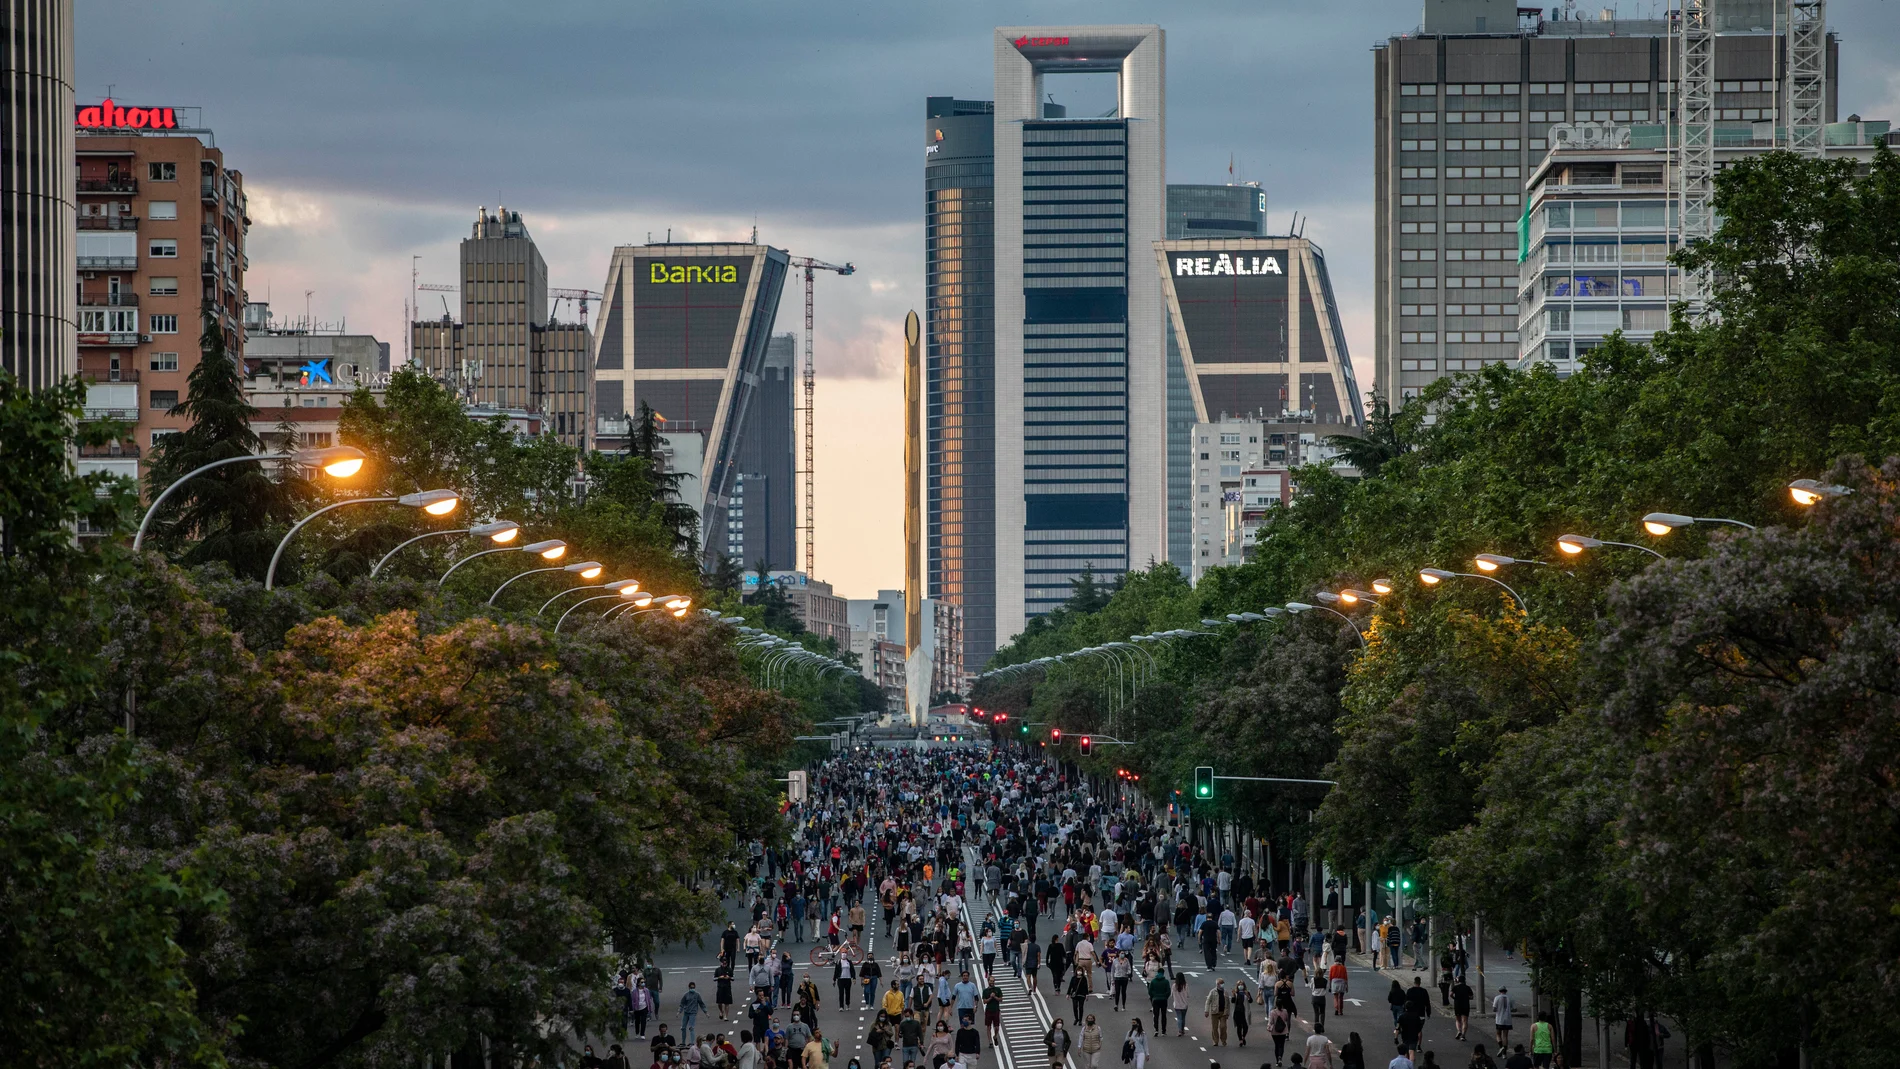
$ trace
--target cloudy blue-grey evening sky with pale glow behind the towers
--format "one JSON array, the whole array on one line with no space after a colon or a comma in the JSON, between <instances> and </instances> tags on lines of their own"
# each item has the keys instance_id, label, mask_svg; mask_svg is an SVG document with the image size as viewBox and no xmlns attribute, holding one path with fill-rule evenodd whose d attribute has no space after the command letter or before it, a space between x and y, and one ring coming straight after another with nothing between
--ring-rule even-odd
<instances>
[{"instance_id":1,"label":"cloudy blue-grey evening sky with pale glow behind the towers","mask_svg":"<svg viewBox=\"0 0 1900 1069\"><path fill-rule=\"evenodd\" d=\"M1269 228L1311 216L1370 385L1370 49L1417 21L1419 0L78 0L78 93L201 106L251 190L253 300L397 353L412 256L454 283L477 205L521 211L557 287L600 289L614 245L669 228L857 264L817 292L817 572L870 596L902 583L923 97L988 99L996 25L1159 23L1168 180L1231 158ZM1835 0L1830 27L1843 116L1900 118L1900 6ZM798 313L788 287L779 328Z\"/></svg>"}]
</instances>

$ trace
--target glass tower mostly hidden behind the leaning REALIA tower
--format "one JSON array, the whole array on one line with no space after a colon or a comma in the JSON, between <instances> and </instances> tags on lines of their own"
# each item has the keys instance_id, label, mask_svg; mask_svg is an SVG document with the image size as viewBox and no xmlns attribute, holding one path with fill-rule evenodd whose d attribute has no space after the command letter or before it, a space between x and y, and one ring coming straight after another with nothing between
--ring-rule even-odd
<instances>
[{"instance_id":1,"label":"glass tower mostly hidden behind the leaning REALIA tower","mask_svg":"<svg viewBox=\"0 0 1900 1069\"><path fill-rule=\"evenodd\" d=\"M1267 232L1267 194L1258 184L1168 184L1170 241L1184 237L1258 237ZM1174 330L1167 332L1168 366L1168 560L1182 572L1195 566L1193 437L1195 406L1182 368Z\"/></svg>"}]
</instances>

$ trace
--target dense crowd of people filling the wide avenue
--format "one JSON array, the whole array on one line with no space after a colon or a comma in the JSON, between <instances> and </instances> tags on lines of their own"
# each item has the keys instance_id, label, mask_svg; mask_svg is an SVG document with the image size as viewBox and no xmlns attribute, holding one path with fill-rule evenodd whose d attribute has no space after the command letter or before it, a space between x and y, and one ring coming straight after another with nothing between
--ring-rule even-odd
<instances>
[{"instance_id":1,"label":"dense crowd of people filling the wide avenue","mask_svg":"<svg viewBox=\"0 0 1900 1069\"><path fill-rule=\"evenodd\" d=\"M855 750L815 769L809 797L787 818L790 847L752 853L743 891L750 927L720 932L711 1004L688 982L680 1031L661 1023L648 1035L659 970L629 972L616 985L625 1039L648 1041L654 1069L830 1069L840 1046L819 1027L821 980L840 1010L863 1006L872 1018L870 1061L851 1058L847 1069L975 1069L984 1044L1003 1042L998 968L1032 991L1047 970L1049 993L1068 997L1068 1020L1053 1010L1043 1035L1051 1067L1075 1054L1077 1069L1100 1069L1106 1037L1121 1033L1123 1065L1146 1069L1150 1037L1170 1035L1170 1025L1189 1035L1193 1010L1210 1048L1246 1046L1258 1027L1273 1067L1368 1065L1360 1033L1343 1044L1326 1033L1328 1014L1347 1012L1357 932L1324 930L1298 891L1235 873L1233 858L1208 856L1168 818L1096 797L1045 761L1001 748ZM813 957L828 966L800 978L788 946L808 938L830 947ZM882 953L872 953L878 938ZM1396 957L1391 921L1374 942L1383 949L1387 938ZM1220 976L1191 999L1176 951L1210 974L1226 955L1241 976ZM1440 997L1463 1039L1472 991L1463 961L1440 965ZM1129 1014L1127 1027L1089 1012L1096 995L1108 997L1108 1012ZM733 1012L735 997L743 1012ZM1512 1010L1509 993L1497 999L1503 1069L1520 1060L1526 1069L1552 1065L1547 1020L1533 1025L1530 1054L1518 1044L1505 1056ZM1395 980L1387 1003L1396 1050L1389 1067L1436 1067L1433 1052L1419 1050L1429 989ZM701 1031L709 1012L749 1027ZM621 1069L629 1060L616 1044L598 1063ZM1499 1069L1482 1044L1471 1067Z\"/></svg>"}]
</instances>

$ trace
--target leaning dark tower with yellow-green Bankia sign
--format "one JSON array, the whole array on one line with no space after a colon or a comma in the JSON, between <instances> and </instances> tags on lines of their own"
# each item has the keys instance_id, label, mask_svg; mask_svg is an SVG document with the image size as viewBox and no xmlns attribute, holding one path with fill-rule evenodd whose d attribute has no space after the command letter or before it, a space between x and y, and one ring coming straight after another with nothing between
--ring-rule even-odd
<instances>
[{"instance_id":1,"label":"leaning dark tower with yellow-green Bankia sign","mask_svg":"<svg viewBox=\"0 0 1900 1069\"><path fill-rule=\"evenodd\" d=\"M788 268L785 251L766 245L621 245L600 289L593 353L600 448L623 448L640 408L652 408L674 437L676 471L694 480L684 499L699 513L709 568L732 554L726 513L750 406L770 395L760 380ZM849 640L842 627L838 636Z\"/></svg>"}]
</instances>

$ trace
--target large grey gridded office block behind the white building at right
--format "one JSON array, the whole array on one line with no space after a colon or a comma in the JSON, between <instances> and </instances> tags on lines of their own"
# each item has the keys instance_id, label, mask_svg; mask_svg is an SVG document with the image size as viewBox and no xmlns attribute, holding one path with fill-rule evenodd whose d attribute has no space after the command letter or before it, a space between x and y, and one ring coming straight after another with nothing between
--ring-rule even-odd
<instances>
[{"instance_id":1,"label":"large grey gridded office block behind the white building at right","mask_svg":"<svg viewBox=\"0 0 1900 1069\"><path fill-rule=\"evenodd\" d=\"M1714 2L1718 123L1775 122L1786 70L1776 9ZM1680 65L1666 21L1543 13L1427 0L1419 32L1374 49L1374 384L1395 406L1442 374L1516 359L1524 178L1550 127L1672 122ZM1830 38L1830 72L1837 53ZM1830 76L1830 122L1835 95Z\"/></svg>"}]
</instances>

